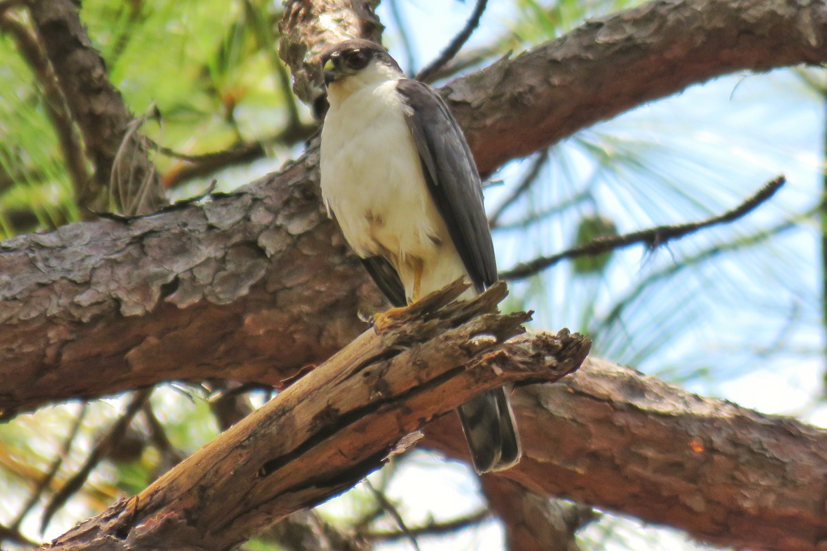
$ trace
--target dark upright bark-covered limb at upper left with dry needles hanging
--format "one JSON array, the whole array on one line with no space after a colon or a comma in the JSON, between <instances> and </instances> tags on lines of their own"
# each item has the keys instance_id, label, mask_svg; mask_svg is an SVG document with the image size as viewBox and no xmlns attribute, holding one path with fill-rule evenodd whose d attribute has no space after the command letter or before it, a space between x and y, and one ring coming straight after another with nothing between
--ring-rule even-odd
<instances>
[{"instance_id":1,"label":"dark upright bark-covered limb at upper left with dry needles hanging","mask_svg":"<svg viewBox=\"0 0 827 551\"><path fill-rule=\"evenodd\" d=\"M146 143L135 132L134 117L109 82L103 59L80 22L79 4L72 0L26 4L95 166L95 185L89 182L79 202L103 210L108 205L99 194L114 188L119 206L128 214L151 213L167 204L158 172L146 155Z\"/></svg>"}]
</instances>

